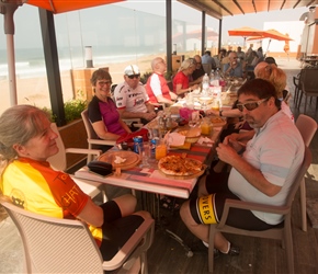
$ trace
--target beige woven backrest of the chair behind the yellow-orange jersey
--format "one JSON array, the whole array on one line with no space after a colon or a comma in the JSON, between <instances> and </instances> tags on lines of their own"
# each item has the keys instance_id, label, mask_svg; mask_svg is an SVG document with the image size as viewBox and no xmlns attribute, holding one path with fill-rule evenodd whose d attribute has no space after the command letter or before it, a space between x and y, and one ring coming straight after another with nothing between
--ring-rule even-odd
<instances>
[{"instance_id":1,"label":"beige woven backrest of the chair behind the yellow-orange jersey","mask_svg":"<svg viewBox=\"0 0 318 274\"><path fill-rule=\"evenodd\" d=\"M26 273L103 274L103 259L86 224L1 204L21 235Z\"/></svg>"}]
</instances>

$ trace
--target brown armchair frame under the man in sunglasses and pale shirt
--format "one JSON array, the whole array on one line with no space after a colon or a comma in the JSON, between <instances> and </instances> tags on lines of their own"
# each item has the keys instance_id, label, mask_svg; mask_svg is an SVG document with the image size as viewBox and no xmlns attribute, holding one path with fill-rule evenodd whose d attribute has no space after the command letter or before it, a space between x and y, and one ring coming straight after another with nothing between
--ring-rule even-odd
<instances>
[{"instance_id":1,"label":"brown armchair frame under the man in sunglasses and pale shirt","mask_svg":"<svg viewBox=\"0 0 318 274\"><path fill-rule=\"evenodd\" d=\"M288 266L287 272L289 274L294 273L294 251L293 251L293 237L292 237L292 225L291 225L292 203L294 201L295 194L310 163L311 163L311 152L306 147L304 161L289 190L285 205L272 206L272 205L263 205L263 204L250 203L250 202L243 202L243 201L237 201L237 199L226 199L219 224L209 226L208 271L211 273L213 272L213 266L214 266L214 237L216 232L226 232L226 233L235 233L235 235L281 240L283 243L283 247L286 249L287 266ZM226 225L227 216L231 207L247 209L247 210L258 210L258 212L281 214L285 216L285 219L282 227L275 227L268 230L253 231L253 230L239 229L239 228L235 228L235 227Z\"/></svg>"}]
</instances>

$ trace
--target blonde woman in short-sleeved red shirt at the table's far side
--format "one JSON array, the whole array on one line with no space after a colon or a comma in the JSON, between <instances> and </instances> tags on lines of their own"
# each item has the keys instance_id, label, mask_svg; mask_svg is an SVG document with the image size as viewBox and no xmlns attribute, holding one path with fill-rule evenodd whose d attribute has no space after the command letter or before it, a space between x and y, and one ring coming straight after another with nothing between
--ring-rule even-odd
<instances>
[{"instance_id":1,"label":"blonde woman in short-sleeved red shirt at the table's far side","mask_svg":"<svg viewBox=\"0 0 318 274\"><path fill-rule=\"evenodd\" d=\"M193 58L185 59L177 75L173 77L172 83L173 83L173 92L184 98L186 92L191 92L192 90L195 90L198 88L198 84L193 84L189 87L189 77L193 73L193 71L196 68L195 60Z\"/></svg>"}]
</instances>

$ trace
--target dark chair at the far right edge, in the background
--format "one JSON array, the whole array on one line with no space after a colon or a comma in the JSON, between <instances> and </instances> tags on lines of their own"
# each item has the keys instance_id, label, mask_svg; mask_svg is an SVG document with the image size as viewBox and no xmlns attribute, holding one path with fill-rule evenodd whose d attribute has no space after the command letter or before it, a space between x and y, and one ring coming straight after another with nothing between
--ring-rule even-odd
<instances>
[{"instance_id":1,"label":"dark chair at the far right edge, in the background","mask_svg":"<svg viewBox=\"0 0 318 274\"><path fill-rule=\"evenodd\" d=\"M306 114L307 109L307 98L315 96L316 98L316 110L318 109L318 68L306 68L302 69L299 77L299 102L298 109L300 106L300 102L303 99L303 94L305 95L305 106L304 113Z\"/></svg>"}]
</instances>

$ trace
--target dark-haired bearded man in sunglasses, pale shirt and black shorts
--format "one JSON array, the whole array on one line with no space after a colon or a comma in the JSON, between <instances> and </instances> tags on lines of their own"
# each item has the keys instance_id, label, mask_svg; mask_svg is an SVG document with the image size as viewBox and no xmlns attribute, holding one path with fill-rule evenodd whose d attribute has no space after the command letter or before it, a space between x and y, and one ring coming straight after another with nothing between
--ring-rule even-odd
<instances>
[{"instance_id":1,"label":"dark-haired bearded man in sunglasses, pale shirt and black shorts","mask_svg":"<svg viewBox=\"0 0 318 274\"><path fill-rule=\"evenodd\" d=\"M189 229L208 241L208 225L217 224L227 198L265 205L284 205L304 159L304 140L281 111L272 83L263 79L246 82L238 91L238 109L254 129L243 146L227 136L216 148L218 158L232 168L228 173L211 173L198 182L198 198L185 202L180 214ZM283 222L283 215L230 209L227 224L247 230L266 230ZM238 255L239 249L222 235L215 235L218 253Z\"/></svg>"}]
</instances>

